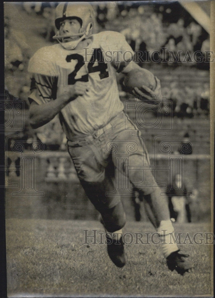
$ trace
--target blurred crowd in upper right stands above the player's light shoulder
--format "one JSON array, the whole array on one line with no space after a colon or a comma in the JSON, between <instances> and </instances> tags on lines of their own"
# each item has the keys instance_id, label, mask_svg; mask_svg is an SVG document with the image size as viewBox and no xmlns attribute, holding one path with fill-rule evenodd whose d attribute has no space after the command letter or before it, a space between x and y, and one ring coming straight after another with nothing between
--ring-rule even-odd
<instances>
[{"instance_id":1,"label":"blurred crowd in upper right stands above the player's light shoulder","mask_svg":"<svg viewBox=\"0 0 215 298\"><path fill-rule=\"evenodd\" d=\"M168 51L181 51L181 60L187 51L191 57L195 51L209 51L208 33L194 19L186 18L185 22L183 14L178 19L176 15L171 8L158 4L128 2L122 5L112 2L97 6L97 22L102 28L121 32L133 50L148 51L149 57L162 47L168 48L166 53L160 55L162 60L168 60Z\"/></svg>"}]
</instances>

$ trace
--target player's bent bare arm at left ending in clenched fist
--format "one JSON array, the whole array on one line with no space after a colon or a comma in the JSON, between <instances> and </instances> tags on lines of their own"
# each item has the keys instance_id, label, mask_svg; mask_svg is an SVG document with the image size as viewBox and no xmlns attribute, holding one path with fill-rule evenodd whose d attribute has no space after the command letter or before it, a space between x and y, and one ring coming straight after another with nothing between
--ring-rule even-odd
<instances>
[{"instance_id":1,"label":"player's bent bare arm at left ending in clenched fist","mask_svg":"<svg viewBox=\"0 0 215 298\"><path fill-rule=\"evenodd\" d=\"M48 102L45 102L44 100L41 101L41 92L39 93L38 90L34 90L34 94L29 96L29 120L31 127L38 128L45 125L51 121L70 101L75 100L86 91L87 83L77 82L74 85L65 86L63 91L57 92L56 99L51 99Z\"/></svg>"}]
</instances>

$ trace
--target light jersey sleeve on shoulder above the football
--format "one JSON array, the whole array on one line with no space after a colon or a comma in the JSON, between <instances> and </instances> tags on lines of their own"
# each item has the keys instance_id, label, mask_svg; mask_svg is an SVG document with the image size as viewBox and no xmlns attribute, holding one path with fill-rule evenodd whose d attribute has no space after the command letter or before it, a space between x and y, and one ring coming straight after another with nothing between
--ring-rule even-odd
<instances>
[{"instance_id":1,"label":"light jersey sleeve on shoulder above the football","mask_svg":"<svg viewBox=\"0 0 215 298\"><path fill-rule=\"evenodd\" d=\"M125 36L119 32L101 32L105 55L111 56L111 63L117 72L121 72L134 58L134 52L127 43Z\"/></svg>"}]
</instances>

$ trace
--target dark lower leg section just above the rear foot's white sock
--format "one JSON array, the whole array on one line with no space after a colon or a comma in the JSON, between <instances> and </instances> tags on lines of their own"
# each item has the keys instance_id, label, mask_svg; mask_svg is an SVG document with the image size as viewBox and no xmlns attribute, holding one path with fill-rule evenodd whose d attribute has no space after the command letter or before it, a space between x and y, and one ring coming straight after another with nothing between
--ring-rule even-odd
<instances>
[{"instance_id":1,"label":"dark lower leg section just above the rear foot's white sock","mask_svg":"<svg viewBox=\"0 0 215 298\"><path fill-rule=\"evenodd\" d=\"M105 228L110 233L122 229L125 225L126 216L121 202L115 207L105 210L101 215L105 223Z\"/></svg>"}]
</instances>

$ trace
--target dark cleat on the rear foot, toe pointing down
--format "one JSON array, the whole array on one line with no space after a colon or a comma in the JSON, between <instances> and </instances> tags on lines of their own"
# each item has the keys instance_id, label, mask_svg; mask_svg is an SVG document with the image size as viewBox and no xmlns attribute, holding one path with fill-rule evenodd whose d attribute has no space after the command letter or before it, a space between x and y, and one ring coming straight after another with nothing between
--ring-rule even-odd
<instances>
[{"instance_id":1,"label":"dark cleat on the rear foot, toe pointing down","mask_svg":"<svg viewBox=\"0 0 215 298\"><path fill-rule=\"evenodd\" d=\"M125 259L125 252L124 252L124 242L122 237L119 240L114 240L108 237L108 234L106 234L106 239L107 239L108 255L110 257L110 260L117 267L123 267L126 263L126 259Z\"/></svg>"}]
</instances>

